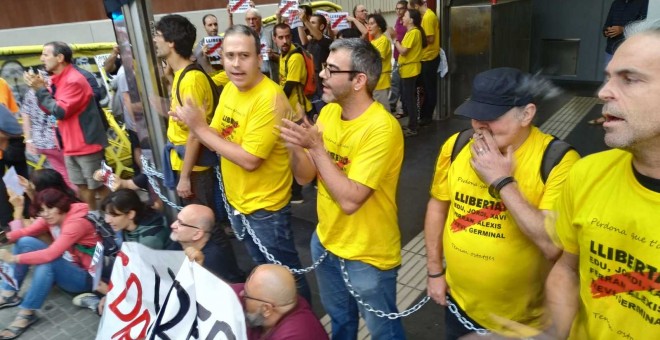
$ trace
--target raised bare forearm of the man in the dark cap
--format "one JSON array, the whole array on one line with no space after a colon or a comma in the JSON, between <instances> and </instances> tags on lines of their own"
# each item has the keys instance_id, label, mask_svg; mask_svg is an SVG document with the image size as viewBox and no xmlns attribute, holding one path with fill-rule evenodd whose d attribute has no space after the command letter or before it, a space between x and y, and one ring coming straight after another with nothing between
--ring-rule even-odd
<instances>
[{"instance_id":1,"label":"raised bare forearm of the man in the dark cap","mask_svg":"<svg viewBox=\"0 0 660 340\"><path fill-rule=\"evenodd\" d=\"M516 224L529 239L541 249L550 261L555 261L561 250L555 246L545 230L545 214L527 202L516 183L508 184L500 191L502 202L511 212Z\"/></svg>"}]
</instances>

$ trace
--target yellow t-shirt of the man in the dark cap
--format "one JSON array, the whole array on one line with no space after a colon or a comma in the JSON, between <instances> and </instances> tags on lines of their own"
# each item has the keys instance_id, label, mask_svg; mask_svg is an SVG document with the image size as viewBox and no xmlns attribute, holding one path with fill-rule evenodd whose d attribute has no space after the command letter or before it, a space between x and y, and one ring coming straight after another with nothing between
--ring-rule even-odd
<instances>
[{"instance_id":1,"label":"yellow t-shirt of the man in the dark cap","mask_svg":"<svg viewBox=\"0 0 660 340\"><path fill-rule=\"evenodd\" d=\"M443 233L450 293L472 319L495 332L504 333L504 329L491 314L541 329L545 326L544 283L551 263L520 231L502 201L490 196L488 184L470 164L470 144L451 162L457 135L442 146L431 186L431 196L451 203ZM579 158L569 151L544 185L541 161L552 138L533 127L514 152L518 188L529 204L541 210L552 209Z\"/></svg>"}]
</instances>

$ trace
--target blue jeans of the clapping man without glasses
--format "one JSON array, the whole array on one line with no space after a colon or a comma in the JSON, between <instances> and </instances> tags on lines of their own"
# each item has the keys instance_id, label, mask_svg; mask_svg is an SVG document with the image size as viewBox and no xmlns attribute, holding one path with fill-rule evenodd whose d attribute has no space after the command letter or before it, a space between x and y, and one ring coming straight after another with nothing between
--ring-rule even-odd
<instances>
[{"instance_id":1,"label":"blue jeans of the clapping man without glasses","mask_svg":"<svg viewBox=\"0 0 660 340\"><path fill-rule=\"evenodd\" d=\"M234 208L232 207L232 209ZM250 227L254 230L261 244L268 249L268 252L276 260L289 268L302 268L298 251L296 250L296 244L293 240L293 231L291 230L291 204L287 204L278 211L257 210L249 215L245 215L245 218L250 223ZM229 220L234 230L237 231L237 234L241 234L243 221L240 215L231 214ZM252 261L256 264L270 263L247 232L242 243L247 248L248 253L250 253ZM295 275L295 278L298 294L304 297L311 305L312 293L309 290L309 284L305 275Z\"/></svg>"}]
</instances>

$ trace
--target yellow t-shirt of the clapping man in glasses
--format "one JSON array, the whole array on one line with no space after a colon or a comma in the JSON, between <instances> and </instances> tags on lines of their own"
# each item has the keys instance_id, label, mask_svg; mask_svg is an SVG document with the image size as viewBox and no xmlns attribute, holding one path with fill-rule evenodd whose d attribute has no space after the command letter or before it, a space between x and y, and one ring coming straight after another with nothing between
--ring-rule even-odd
<instances>
[{"instance_id":1,"label":"yellow t-shirt of the clapping man in glasses","mask_svg":"<svg viewBox=\"0 0 660 340\"><path fill-rule=\"evenodd\" d=\"M317 124L330 157L349 179L373 190L352 215L342 212L322 177L318 181L316 229L331 253L381 270L401 263L396 189L403 161L401 126L378 102L358 118L342 120L341 106L328 104Z\"/></svg>"}]
</instances>

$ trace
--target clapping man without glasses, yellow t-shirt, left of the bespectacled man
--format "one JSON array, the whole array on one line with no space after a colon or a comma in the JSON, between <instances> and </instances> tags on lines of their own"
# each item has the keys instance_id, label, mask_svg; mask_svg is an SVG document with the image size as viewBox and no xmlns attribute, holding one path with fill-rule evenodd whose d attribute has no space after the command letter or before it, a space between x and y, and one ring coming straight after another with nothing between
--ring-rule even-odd
<instances>
[{"instance_id":1,"label":"clapping man without glasses, yellow t-shirt, left of the bespectacled man","mask_svg":"<svg viewBox=\"0 0 660 340\"><path fill-rule=\"evenodd\" d=\"M294 118L282 89L260 71L259 44L259 36L249 27L230 27L222 45L230 83L222 91L211 125L195 105L180 108L175 117L222 156L222 179L235 230L243 230L241 217L245 217L275 260L301 268L291 231L289 153L276 133L283 117ZM243 244L255 263L268 263L250 235ZM296 281L300 295L311 301L304 275L296 275Z\"/></svg>"}]
</instances>

